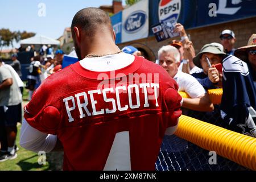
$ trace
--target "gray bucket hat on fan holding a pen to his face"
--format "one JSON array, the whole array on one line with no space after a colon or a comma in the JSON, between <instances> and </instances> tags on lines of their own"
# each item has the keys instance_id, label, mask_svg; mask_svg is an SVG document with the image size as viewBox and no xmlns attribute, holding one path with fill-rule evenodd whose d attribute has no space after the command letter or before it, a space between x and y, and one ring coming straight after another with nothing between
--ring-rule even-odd
<instances>
[{"instance_id":1,"label":"gray bucket hat on fan holding a pen to his face","mask_svg":"<svg viewBox=\"0 0 256 182\"><path fill-rule=\"evenodd\" d=\"M199 67L202 68L200 59L203 53L213 53L215 55L221 55L225 56L226 53L224 52L224 48L221 44L219 43L210 43L210 44L205 44L203 48L201 48L201 51L196 55L196 57L193 58L193 63Z\"/></svg>"}]
</instances>

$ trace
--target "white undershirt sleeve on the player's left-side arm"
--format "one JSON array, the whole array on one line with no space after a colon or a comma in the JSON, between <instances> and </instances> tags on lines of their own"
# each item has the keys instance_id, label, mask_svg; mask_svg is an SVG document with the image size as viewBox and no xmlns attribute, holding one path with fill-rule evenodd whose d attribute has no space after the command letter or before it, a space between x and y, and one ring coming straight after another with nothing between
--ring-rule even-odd
<instances>
[{"instance_id":1,"label":"white undershirt sleeve on the player's left-side arm","mask_svg":"<svg viewBox=\"0 0 256 182\"><path fill-rule=\"evenodd\" d=\"M26 150L39 152L51 152L57 142L56 135L42 133L30 126L26 119L23 119L22 128L20 130L19 144Z\"/></svg>"}]
</instances>

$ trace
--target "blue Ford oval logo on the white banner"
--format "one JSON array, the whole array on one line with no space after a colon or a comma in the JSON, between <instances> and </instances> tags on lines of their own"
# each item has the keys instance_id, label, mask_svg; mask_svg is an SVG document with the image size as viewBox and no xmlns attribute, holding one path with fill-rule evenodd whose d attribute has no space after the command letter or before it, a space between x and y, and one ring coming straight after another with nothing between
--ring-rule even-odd
<instances>
[{"instance_id":1,"label":"blue Ford oval logo on the white banner","mask_svg":"<svg viewBox=\"0 0 256 182\"><path fill-rule=\"evenodd\" d=\"M129 34L133 34L144 26L146 23L147 15L144 11L135 11L133 14L129 15L125 20L123 28Z\"/></svg>"}]
</instances>

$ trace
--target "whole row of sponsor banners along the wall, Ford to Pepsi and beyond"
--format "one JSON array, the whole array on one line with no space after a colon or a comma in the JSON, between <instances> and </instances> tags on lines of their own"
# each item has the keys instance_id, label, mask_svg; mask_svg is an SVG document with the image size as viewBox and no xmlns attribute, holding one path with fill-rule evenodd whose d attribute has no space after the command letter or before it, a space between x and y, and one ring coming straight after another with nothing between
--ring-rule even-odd
<instances>
[{"instance_id":1,"label":"whole row of sponsor banners along the wall, Ford to Pepsi and beyond","mask_svg":"<svg viewBox=\"0 0 256 182\"><path fill-rule=\"evenodd\" d=\"M188 29L253 17L255 5L256 0L141 0L111 20L119 44L153 36L159 24L177 22ZM158 41L164 39L162 31L155 34Z\"/></svg>"}]
</instances>

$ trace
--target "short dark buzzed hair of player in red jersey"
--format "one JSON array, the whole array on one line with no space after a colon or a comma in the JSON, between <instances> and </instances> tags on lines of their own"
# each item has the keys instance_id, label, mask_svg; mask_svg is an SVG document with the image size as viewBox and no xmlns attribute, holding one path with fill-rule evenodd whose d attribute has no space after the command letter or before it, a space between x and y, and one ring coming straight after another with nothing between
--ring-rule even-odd
<instances>
[{"instance_id":1,"label":"short dark buzzed hair of player in red jersey","mask_svg":"<svg viewBox=\"0 0 256 182\"><path fill-rule=\"evenodd\" d=\"M76 13L71 24L73 40L75 40L74 27L80 27L90 38L93 38L96 30L99 30L100 28L107 27L109 30L112 30L109 15L96 7L88 7Z\"/></svg>"}]
</instances>

